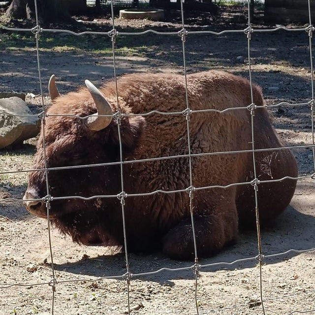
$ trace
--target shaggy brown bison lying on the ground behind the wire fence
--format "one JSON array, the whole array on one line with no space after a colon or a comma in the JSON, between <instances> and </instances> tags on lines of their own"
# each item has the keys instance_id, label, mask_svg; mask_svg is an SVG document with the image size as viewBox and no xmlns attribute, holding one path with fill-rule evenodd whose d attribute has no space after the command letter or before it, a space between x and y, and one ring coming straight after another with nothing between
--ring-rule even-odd
<instances>
[{"instance_id":1,"label":"shaggy brown bison lying on the ground behind the wire fence","mask_svg":"<svg viewBox=\"0 0 315 315\"><path fill-rule=\"evenodd\" d=\"M223 113L198 110L246 107L252 103L250 82L220 71L189 74L188 99L192 185L243 185L227 188L193 189L193 219L198 256L210 256L235 241L238 226L254 226L255 193L258 187L260 221L267 223L289 204L297 176L296 160L284 146L271 124L266 108L254 110L254 147L270 149L255 153L257 180L254 179L252 152L203 155L252 149L251 111L247 108ZM127 249L148 252L158 247L179 259L194 255L189 207L189 151L185 115L185 78L177 74L129 74L107 82L100 90L86 81L86 88L59 95L54 77L49 84L52 105L47 110L29 173L24 196L32 214L47 218L43 138L48 167L100 164L48 170L51 201L49 219L73 241L85 245L124 246L121 200L120 141L117 122L108 115L122 116L125 218ZM263 105L259 87L252 87L255 105ZM250 108L249 108L250 109ZM177 113L162 115L151 111ZM80 119L66 114L80 117ZM132 115L130 115L132 114ZM107 115L107 116L100 116ZM201 154L201 155L198 155ZM176 157L181 156L181 157ZM184 157L183 157L184 156ZM170 157L160 160L138 160ZM135 162L132 162L134 160ZM254 181L253 181L254 180ZM245 183L245 184L244 184ZM247 184L246 184L247 183ZM181 190L180 192L134 196L132 194ZM185 190L186 189L186 190ZM129 194L129 196L128 196ZM131 196L130 196L131 194ZM121 195L121 194L120 194ZM91 197L82 200L75 196ZM97 197L100 196L100 197ZM56 197L71 197L59 199ZM36 199L36 200L29 200Z\"/></svg>"}]
</instances>

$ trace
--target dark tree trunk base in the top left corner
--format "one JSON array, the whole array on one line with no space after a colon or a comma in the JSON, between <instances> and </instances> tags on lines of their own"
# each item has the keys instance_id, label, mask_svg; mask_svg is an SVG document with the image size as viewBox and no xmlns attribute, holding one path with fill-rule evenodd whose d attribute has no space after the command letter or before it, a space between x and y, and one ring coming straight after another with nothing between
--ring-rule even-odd
<instances>
[{"instance_id":1,"label":"dark tree trunk base in the top left corner","mask_svg":"<svg viewBox=\"0 0 315 315\"><path fill-rule=\"evenodd\" d=\"M70 19L70 14L86 10L85 0L37 0L41 23ZM34 0L12 0L6 14L14 18L35 19Z\"/></svg>"}]
</instances>

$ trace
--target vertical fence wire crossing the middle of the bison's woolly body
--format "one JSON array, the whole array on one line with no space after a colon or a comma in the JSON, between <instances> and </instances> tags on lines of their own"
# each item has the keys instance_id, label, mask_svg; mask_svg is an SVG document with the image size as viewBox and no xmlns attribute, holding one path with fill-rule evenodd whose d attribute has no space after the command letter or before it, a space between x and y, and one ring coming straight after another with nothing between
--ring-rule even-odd
<instances>
[{"instance_id":1,"label":"vertical fence wire crossing the middle of the bison's woolly body","mask_svg":"<svg viewBox=\"0 0 315 315\"><path fill-rule=\"evenodd\" d=\"M186 36L188 35L188 32L185 29L183 0L181 0L181 17L182 17L182 30L179 32L179 35L182 38L182 46L183 46L183 66L184 66L185 94L186 94L186 109L184 110L184 113L186 115L186 121L187 121L187 142L188 142L188 155L189 155L189 185L190 186L187 189L187 192L189 193L189 209L190 209L191 228L192 228L193 246L194 246L194 254L195 254L195 264L193 265L194 280L195 280L194 299L195 299L196 312L197 312L197 315L199 315L198 299L197 299L199 263L198 263L196 232L195 232L195 225L194 225L194 220L193 220L193 203L192 203L194 187L192 185L190 126L189 126L191 110L189 108L189 99L188 99L188 82L187 82L186 51L185 51L185 42L186 42Z\"/></svg>"}]
</instances>

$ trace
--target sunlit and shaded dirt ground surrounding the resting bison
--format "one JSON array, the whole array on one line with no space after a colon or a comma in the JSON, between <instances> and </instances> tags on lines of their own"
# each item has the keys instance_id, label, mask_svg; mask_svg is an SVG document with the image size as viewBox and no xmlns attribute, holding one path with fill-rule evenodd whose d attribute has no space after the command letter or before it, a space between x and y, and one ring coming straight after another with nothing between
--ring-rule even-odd
<instances>
[{"instance_id":1,"label":"sunlit and shaded dirt ground surrounding the resting bison","mask_svg":"<svg viewBox=\"0 0 315 315\"><path fill-rule=\"evenodd\" d=\"M111 21L80 17L85 27L108 31ZM207 21L206 21L207 22ZM211 23L210 23L211 22ZM189 21L188 30L244 29L245 25L217 26L210 21L201 27ZM131 23L131 24L130 24ZM205 24L205 23L203 23ZM180 24L137 20L117 20L120 31L178 31ZM71 26L70 26L71 27ZM263 28L257 26L258 28ZM32 93L27 96L34 112L40 111L36 52L33 39L21 38L14 45L7 33L0 33L0 92ZM82 39L86 47L66 48L70 35L55 34L49 46L44 41L40 51L41 75L45 103L49 104L47 82L55 74L62 94L75 90L85 79L100 85L113 77L110 39L92 36ZM132 37L130 39L130 37ZM183 73L182 42L177 35L141 35L118 37L117 73L177 72ZM57 42L58 39L58 42ZM80 41L81 37L76 37ZM120 41L121 40L121 41ZM95 48L104 41L104 48ZM80 43L78 43L79 45ZM267 104L280 101L308 102L312 99L309 36L305 31L253 33L251 40L252 79L262 87ZM99 46L97 46L99 47ZM189 35L186 43L188 72L222 69L248 77L247 38L244 33ZM309 106L280 106L272 110L274 125L288 145L312 144ZM0 171L30 168L35 139L0 151ZM314 173L312 150L295 149L299 175ZM22 198L27 174L0 175L0 200ZM292 202L285 213L262 230L265 255L289 249L306 250L315 244L314 181L298 182ZM56 284L54 314L91 315L124 314L127 307L126 281L95 282L66 280L118 276L126 272L125 255L111 254L102 247L73 244L57 230L51 231ZM232 262L257 254L255 231L241 231L238 242L220 254L202 259L202 265ZM48 249L47 222L27 213L21 202L0 202L0 314L51 314L52 287L30 285L47 283L52 277ZM160 268L189 267L193 262L174 261L160 252L129 254L132 274ZM30 264L32 269L28 271ZM290 253L266 258L262 267L262 287L266 314L292 314L292 311L315 310L314 252ZM151 276L135 277L130 282L132 314L196 314L192 270L162 271ZM262 314L259 303L259 268L257 261L238 262L202 268L197 282L199 314ZM315 311L314 311L315 312Z\"/></svg>"}]
</instances>

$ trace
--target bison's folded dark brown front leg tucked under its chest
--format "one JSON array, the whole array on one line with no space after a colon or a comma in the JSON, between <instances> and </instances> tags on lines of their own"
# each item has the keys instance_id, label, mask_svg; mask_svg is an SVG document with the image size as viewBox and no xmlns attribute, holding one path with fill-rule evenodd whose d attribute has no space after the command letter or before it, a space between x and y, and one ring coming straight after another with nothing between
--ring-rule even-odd
<instances>
[{"instance_id":1,"label":"bison's folded dark brown front leg tucked under its chest","mask_svg":"<svg viewBox=\"0 0 315 315\"><path fill-rule=\"evenodd\" d=\"M236 207L223 206L203 213L193 215L198 257L208 257L234 242L238 230ZM190 218L178 223L165 235L163 252L173 259L195 256Z\"/></svg>"}]
</instances>

